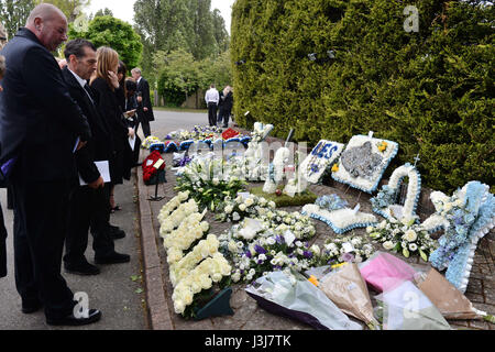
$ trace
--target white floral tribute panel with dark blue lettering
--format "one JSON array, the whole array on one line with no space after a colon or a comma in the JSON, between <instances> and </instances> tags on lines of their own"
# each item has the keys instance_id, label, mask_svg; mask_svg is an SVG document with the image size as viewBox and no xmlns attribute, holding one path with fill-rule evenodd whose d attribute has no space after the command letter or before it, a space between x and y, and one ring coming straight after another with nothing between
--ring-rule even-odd
<instances>
[{"instance_id":1,"label":"white floral tribute panel with dark blue lettering","mask_svg":"<svg viewBox=\"0 0 495 352\"><path fill-rule=\"evenodd\" d=\"M300 165L306 179L317 184L327 167L333 164L344 148L344 144L321 140Z\"/></svg>"}]
</instances>

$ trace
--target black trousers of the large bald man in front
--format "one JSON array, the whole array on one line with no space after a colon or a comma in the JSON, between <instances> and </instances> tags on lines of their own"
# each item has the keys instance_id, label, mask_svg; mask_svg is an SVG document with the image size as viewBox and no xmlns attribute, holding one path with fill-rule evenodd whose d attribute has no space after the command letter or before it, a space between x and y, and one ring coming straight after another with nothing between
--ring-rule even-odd
<instances>
[{"instance_id":1,"label":"black trousers of the large bald man in front","mask_svg":"<svg viewBox=\"0 0 495 352\"><path fill-rule=\"evenodd\" d=\"M47 319L73 312L74 294L61 274L70 186L59 182L12 182L15 286L23 302L43 302Z\"/></svg>"}]
</instances>

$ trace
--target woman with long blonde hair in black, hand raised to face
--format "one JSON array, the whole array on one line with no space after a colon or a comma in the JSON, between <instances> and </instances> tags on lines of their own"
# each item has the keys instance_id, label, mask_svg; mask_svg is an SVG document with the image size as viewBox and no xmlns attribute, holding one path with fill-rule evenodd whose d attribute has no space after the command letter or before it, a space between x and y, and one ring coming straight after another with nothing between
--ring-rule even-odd
<instances>
[{"instance_id":1,"label":"woman with long blonde hair in black, hand raised to face","mask_svg":"<svg viewBox=\"0 0 495 352\"><path fill-rule=\"evenodd\" d=\"M91 88L97 95L97 106L107 121L113 142L113 160L110 161L111 187L109 195L110 210L120 208L113 199L113 188L123 183L125 143L134 130L127 127L122 119L122 110L117 99L116 89L119 88L117 76L119 68L119 54L108 46L97 51L97 70L91 77Z\"/></svg>"}]
</instances>

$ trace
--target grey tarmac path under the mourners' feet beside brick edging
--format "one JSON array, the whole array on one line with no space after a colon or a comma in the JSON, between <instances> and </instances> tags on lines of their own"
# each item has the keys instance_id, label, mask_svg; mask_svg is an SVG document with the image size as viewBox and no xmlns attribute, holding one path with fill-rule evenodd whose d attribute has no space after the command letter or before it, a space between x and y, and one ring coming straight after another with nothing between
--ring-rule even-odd
<instances>
[{"instance_id":1,"label":"grey tarmac path under the mourners' feet beside brick edging","mask_svg":"<svg viewBox=\"0 0 495 352\"><path fill-rule=\"evenodd\" d=\"M116 212L112 224L121 227L127 237L116 241L116 250L120 253L129 253L131 262L118 265L100 265L101 273L97 276L78 276L66 274L70 289L85 292L89 296L89 305L102 312L99 322L80 327L51 327L45 323L44 314L37 311L33 315L21 312L21 298L15 290L13 275L13 235L12 210L7 210L6 190L0 189L1 205L8 227L8 262L9 275L0 279L0 330L143 330L148 328L145 296L141 275L141 243L140 229L134 202L135 177L132 182L116 188L116 200L122 207ZM86 252L86 257L94 263L91 240ZM136 276L135 280L131 276Z\"/></svg>"}]
</instances>

